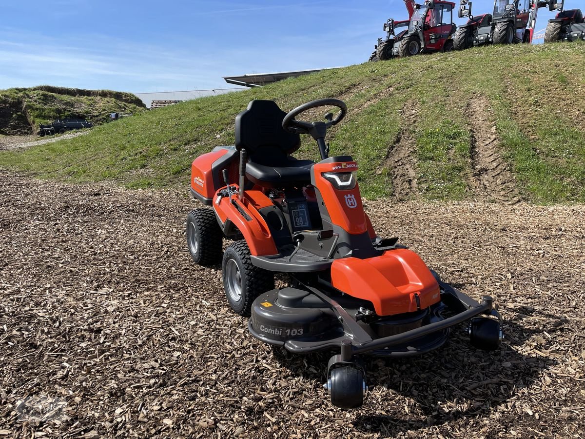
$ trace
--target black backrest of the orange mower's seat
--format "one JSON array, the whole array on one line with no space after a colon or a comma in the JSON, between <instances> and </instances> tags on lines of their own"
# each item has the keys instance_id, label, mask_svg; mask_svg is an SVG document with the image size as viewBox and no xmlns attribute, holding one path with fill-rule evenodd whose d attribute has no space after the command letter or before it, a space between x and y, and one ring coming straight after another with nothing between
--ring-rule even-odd
<instances>
[{"instance_id":1,"label":"black backrest of the orange mower's seat","mask_svg":"<svg viewBox=\"0 0 585 439\"><path fill-rule=\"evenodd\" d=\"M274 101L252 101L236 116L236 149L254 162L279 162L301 146L301 136L284 131L286 113ZM260 160L257 160L260 159Z\"/></svg>"}]
</instances>

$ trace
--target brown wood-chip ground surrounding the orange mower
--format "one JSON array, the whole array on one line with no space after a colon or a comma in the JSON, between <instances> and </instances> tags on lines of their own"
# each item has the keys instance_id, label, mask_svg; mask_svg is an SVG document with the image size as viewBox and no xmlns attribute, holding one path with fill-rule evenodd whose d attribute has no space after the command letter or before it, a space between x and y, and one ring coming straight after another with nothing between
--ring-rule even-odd
<instances>
[{"instance_id":1,"label":"brown wood-chip ground surrounding the orange mower","mask_svg":"<svg viewBox=\"0 0 585 439\"><path fill-rule=\"evenodd\" d=\"M192 265L183 193L0 176L0 437L585 437L583 205L370 202L507 340L368 358L342 411L329 354L275 356Z\"/></svg>"}]
</instances>

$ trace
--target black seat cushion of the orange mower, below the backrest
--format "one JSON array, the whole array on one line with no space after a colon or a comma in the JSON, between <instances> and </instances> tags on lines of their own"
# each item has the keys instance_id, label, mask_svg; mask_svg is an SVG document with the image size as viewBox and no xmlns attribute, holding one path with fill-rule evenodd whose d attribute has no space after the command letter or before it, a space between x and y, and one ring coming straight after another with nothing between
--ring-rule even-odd
<instances>
[{"instance_id":1,"label":"black seat cushion of the orange mower, below the backrest","mask_svg":"<svg viewBox=\"0 0 585 439\"><path fill-rule=\"evenodd\" d=\"M280 166L266 166L265 164L248 162L246 177L261 187L292 187L305 186L311 183L312 160L297 160L287 157L288 160L279 163Z\"/></svg>"}]
</instances>

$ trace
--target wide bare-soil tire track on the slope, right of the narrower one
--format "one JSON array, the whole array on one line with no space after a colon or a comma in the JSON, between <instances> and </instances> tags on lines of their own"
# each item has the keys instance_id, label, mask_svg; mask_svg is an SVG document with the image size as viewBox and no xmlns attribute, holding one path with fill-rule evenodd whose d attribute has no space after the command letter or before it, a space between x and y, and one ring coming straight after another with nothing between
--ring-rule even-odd
<instances>
[{"instance_id":1,"label":"wide bare-soil tire track on the slope, right of the narrower one","mask_svg":"<svg viewBox=\"0 0 585 439\"><path fill-rule=\"evenodd\" d=\"M474 97L469 102L470 165L473 172L470 186L476 196L515 204L521 201L521 197L518 196L510 167L500 155L500 140L495 133L494 122L487 118L488 109L489 104L484 97Z\"/></svg>"}]
</instances>

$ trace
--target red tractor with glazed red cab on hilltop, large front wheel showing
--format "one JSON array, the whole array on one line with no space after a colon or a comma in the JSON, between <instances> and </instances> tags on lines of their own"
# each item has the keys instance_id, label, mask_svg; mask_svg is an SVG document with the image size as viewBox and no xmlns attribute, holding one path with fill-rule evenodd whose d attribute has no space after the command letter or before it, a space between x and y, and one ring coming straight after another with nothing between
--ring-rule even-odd
<instances>
[{"instance_id":1,"label":"red tractor with glazed red cab on hilltop, large front wheel showing","mask_svg":"<svg viewBox=\"0 0 585 439\"><path fill-rule=\"evenodd\" d=\"M415 5L408 31L394 44L394 56L412 56L419 53L449 52L453 50L453 23L455 3L427 0Z\"/></svg>"}]
</instances>

